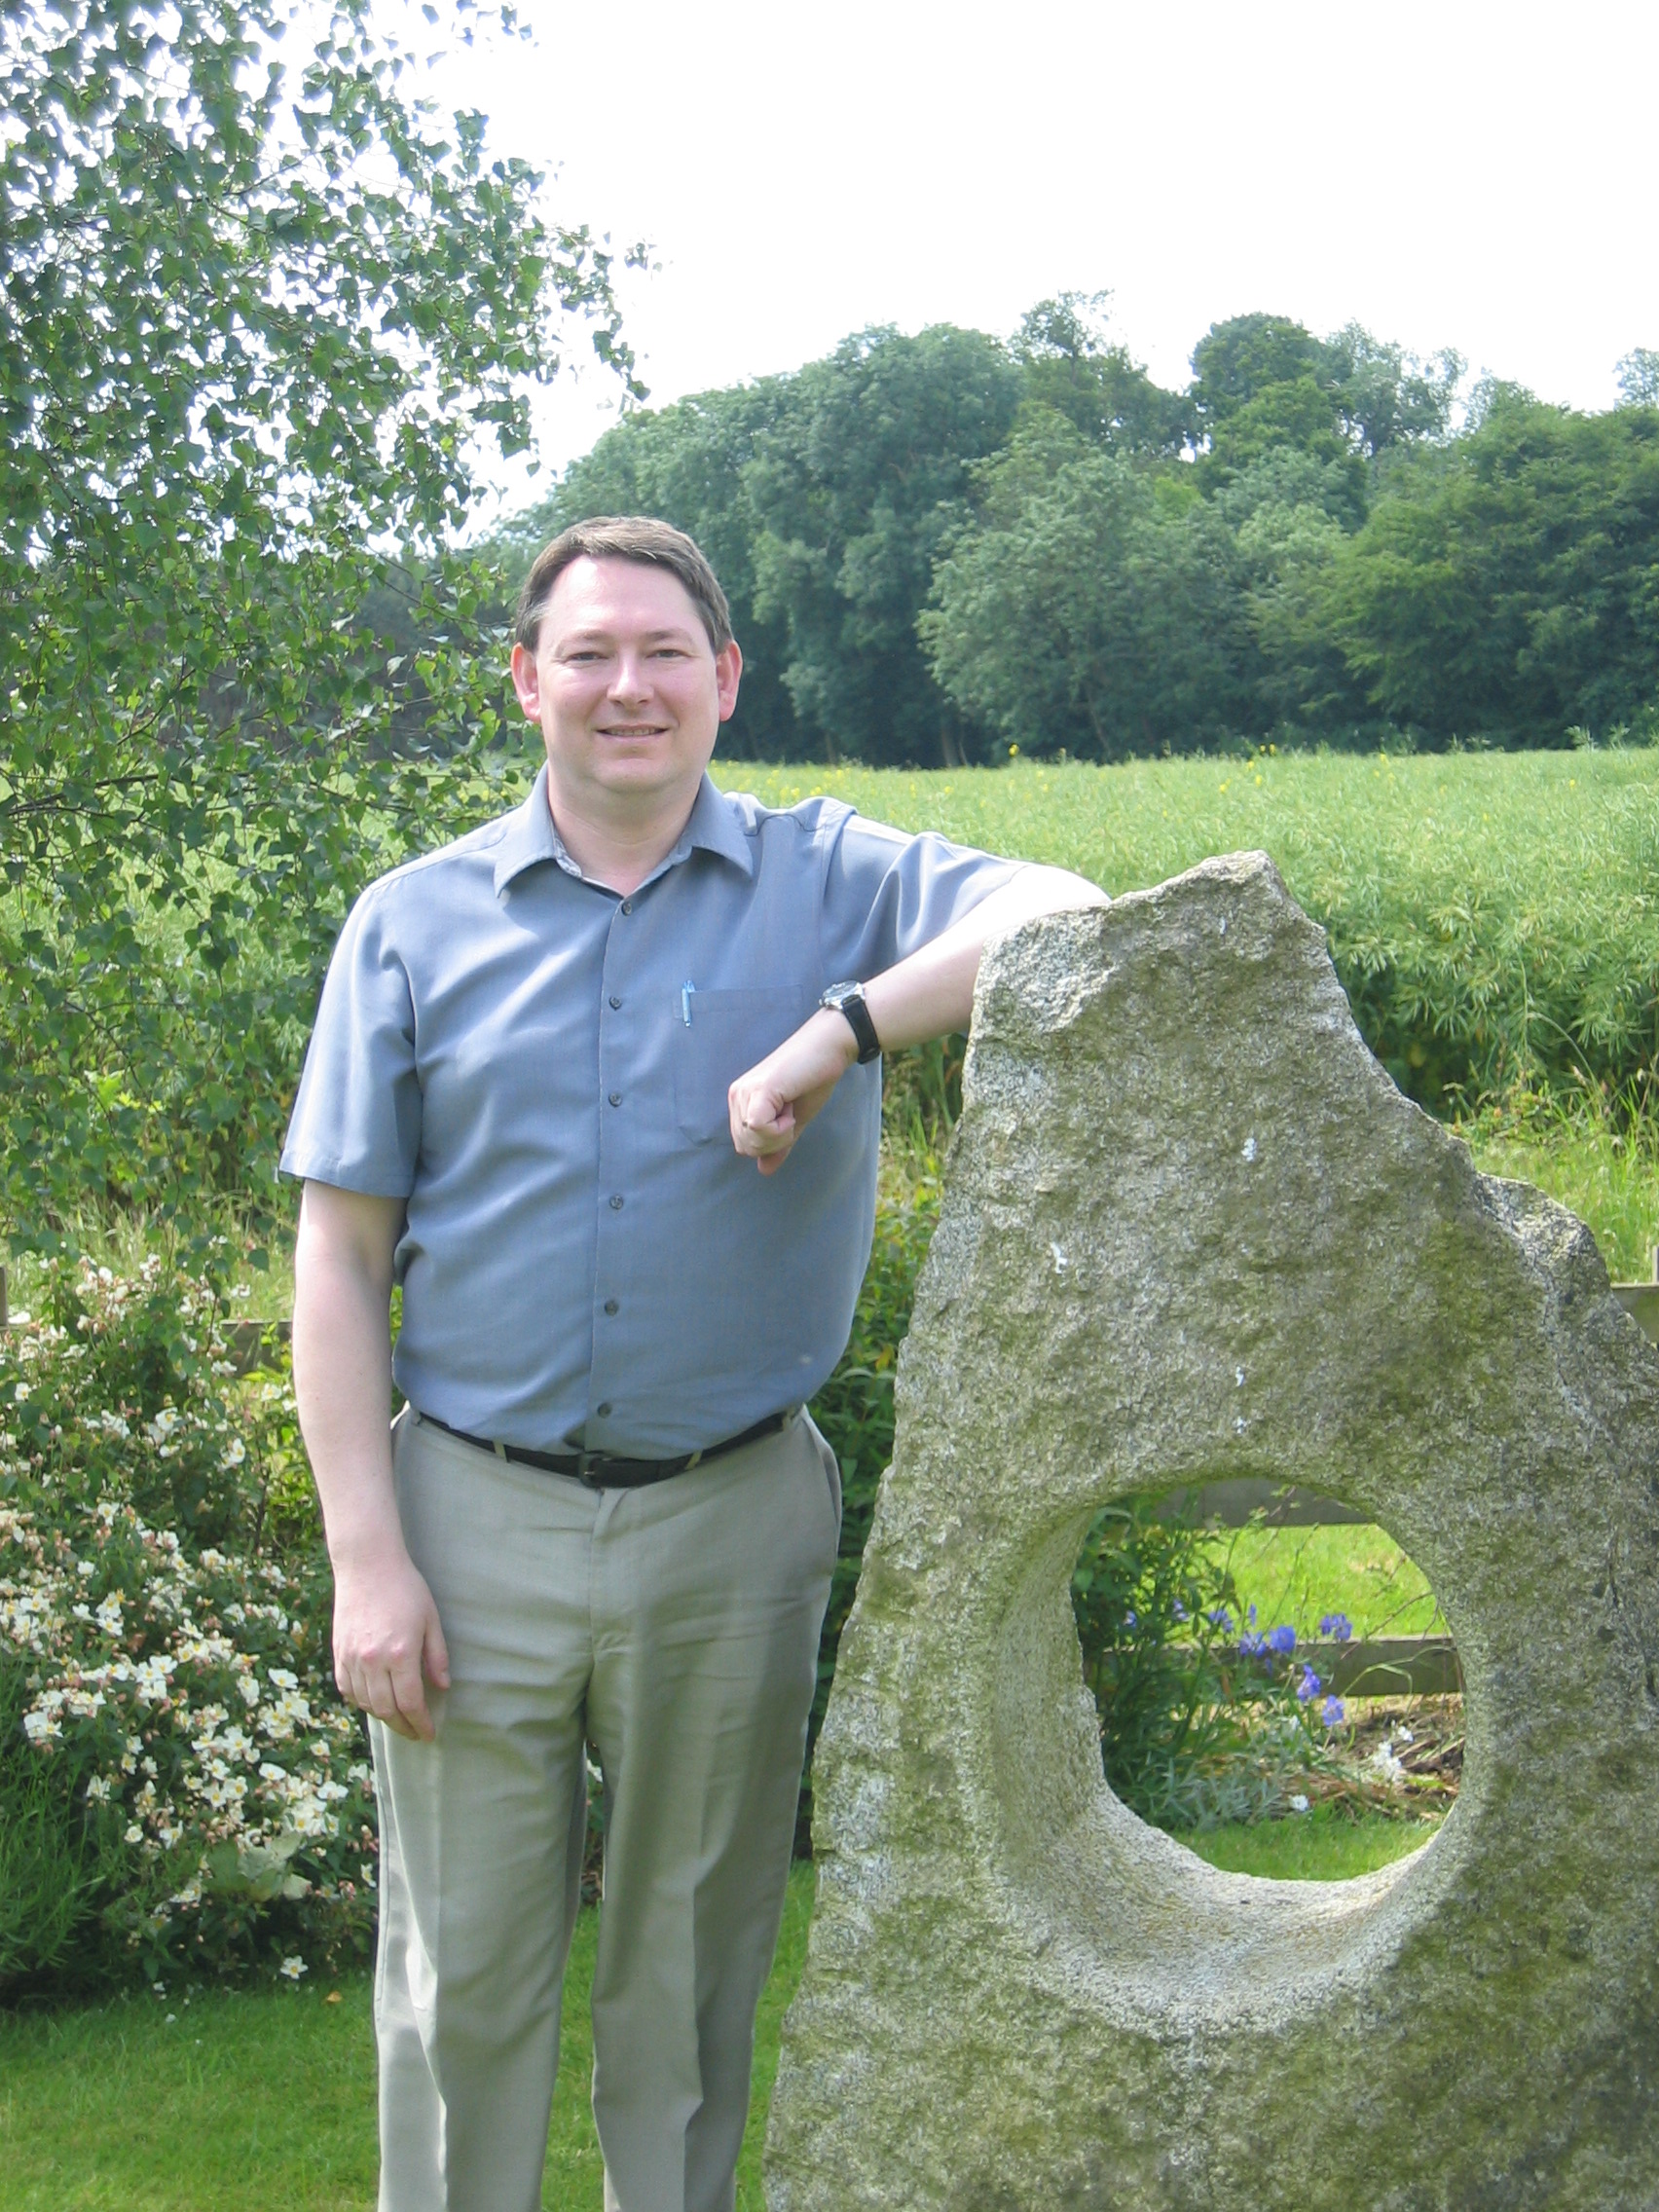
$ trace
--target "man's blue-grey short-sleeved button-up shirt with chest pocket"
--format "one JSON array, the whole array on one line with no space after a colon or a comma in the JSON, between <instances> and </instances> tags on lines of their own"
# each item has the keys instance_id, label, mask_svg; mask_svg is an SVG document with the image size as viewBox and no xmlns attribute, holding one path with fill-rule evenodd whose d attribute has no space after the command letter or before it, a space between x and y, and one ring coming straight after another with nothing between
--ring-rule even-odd
<instances>
[{"instance_id":1,"label":"man's blue-grey short-sleeved button-up shirt with chest pocket","mask_svg":"<svg viewBox=\"0 0 1659 2212\"><path fill-rule=\"evenodd\" d=\"M847 1343L876 1212L880 1068L772 1177L726 1086L818 993L880 973L1013 863L830 799L703 779L633 896L522 807L358 898L283 1170L407 1199L396 1378L507 1444L659 1458L810 1398Z\"/></svg>"}]
</instances>

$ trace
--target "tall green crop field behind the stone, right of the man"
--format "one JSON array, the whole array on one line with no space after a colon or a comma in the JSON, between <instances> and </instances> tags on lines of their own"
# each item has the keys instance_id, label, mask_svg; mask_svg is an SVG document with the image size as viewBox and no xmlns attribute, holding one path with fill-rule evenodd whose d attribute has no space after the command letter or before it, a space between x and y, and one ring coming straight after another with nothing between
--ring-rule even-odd
<instances>
[{"instance_id":1,"label":"tall green crop field behind the stone, right of the man","mask_svg":"<svg viewBox=\"0 0 1659 2212\"><path fill-rule=\"evenodd\" d=\"M1113 894L1265 849L1329 931L1367 1042L1440 1113L1659 1044L1659 754L1274 754L902 772L719 768L1073 867Z\"/></svg>"}]
</instances>

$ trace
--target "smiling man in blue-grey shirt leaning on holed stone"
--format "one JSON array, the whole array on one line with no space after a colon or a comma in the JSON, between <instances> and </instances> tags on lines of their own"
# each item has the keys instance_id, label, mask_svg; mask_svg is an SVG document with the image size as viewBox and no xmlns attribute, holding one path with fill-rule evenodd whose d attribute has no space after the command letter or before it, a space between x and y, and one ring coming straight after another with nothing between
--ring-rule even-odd
<instances>
[{"instance_id":1,"label":"smiling man in blue-grey shirt leaning on holed stone","mask_svg":"<svg viewBox=\"0 0 1659 2212\"><path fill-rule=\"evenodd\" d=\"M723 796L741 666L666 524L540 555L513 686L546 768L352 909L283 1152L380 1798L383 2212L542 2201L584 1745L606 2205L730 2212L841 1522L803 1405L869 1256L876 1055L967 1026L993 931L1099 902Z\"/></svg>"}]
</instances>

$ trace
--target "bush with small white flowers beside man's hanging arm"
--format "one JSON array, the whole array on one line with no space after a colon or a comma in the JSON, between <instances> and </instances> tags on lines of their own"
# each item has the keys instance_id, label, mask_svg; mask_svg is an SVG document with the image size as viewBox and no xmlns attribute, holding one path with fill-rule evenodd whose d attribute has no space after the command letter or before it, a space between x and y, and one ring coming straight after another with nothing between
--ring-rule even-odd
<instances>
[{"instance_id":1,"label":"bush with small white flowers beside man's hanging arm","mask_svg":"<svg viewBox=\"0 0 1659 2212\"><path fill-rule=\"evenodd\" d=\"M0 1338L0 1991L367 1947L292 1389L234 1365L212 1283L155 1261L58 1270Z\"/></svg>"}]
</instances>

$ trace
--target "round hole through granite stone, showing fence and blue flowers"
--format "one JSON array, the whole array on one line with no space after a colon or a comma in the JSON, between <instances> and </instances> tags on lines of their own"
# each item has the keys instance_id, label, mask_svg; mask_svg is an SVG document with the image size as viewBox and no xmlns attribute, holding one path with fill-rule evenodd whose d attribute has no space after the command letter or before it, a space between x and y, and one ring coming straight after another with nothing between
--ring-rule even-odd
<instances>
[{"instance_id":1,"label":"round hole through granite stone, showing fence and blue flowers","mask_svg":"<svg viewBox=\"0 0 1659 2212\"><path fill-rule=\"evenodd\" d=\"M1363 1513L1272 1482L1135 1495L1071 1584L1106 1781L1210 1865L1347 1880L1429 1843L1462 1672L1427 1575Z\"/></svg>"}]
</instances>

